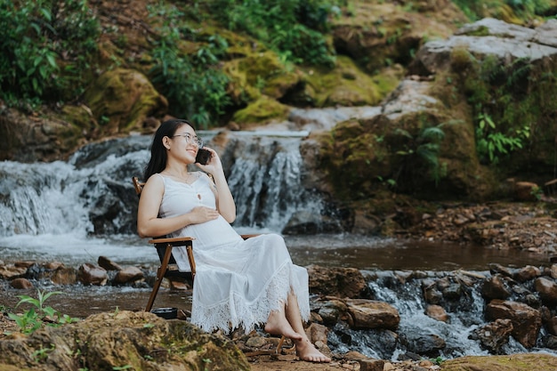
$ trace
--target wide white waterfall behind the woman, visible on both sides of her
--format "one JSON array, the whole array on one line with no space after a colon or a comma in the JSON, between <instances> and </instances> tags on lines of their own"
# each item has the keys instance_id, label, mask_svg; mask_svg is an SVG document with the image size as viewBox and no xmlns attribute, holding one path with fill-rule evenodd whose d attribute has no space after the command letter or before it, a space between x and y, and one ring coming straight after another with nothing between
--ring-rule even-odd
<instances>
[{"instance_id":1,"label":"wide white waterfall behind the woman, visible on both sides of her","mask_svg":"<svg viewBox=\"0 0 557 371\"><path fill-rule=\"evenodd\" d=\"M212 145L215 133L199 134ZM296 213L321 213L319 195L302 186L303 133L226 135L228 144L219 150L238 206L234 228L280 233ZM114 245L118 238L141 244L131 178L141 177L150 141L150 135L101 141L65 162L0 162L0 246L60 251L71 241L71 246L93 243L97 251L99 244Z\"/></svg>"}]
</instances>

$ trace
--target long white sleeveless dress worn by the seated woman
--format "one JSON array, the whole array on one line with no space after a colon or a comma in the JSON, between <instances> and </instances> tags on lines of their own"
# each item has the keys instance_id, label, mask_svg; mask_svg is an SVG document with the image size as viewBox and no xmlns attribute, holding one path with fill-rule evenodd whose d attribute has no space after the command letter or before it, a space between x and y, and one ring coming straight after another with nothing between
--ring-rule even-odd
<instances>
[{"instance_id":1,"label":"long white sleeveless dress worn by the seated woman","mask_svg":"<svg viewBox=\"0 0 557 371\"><path fill-rule=\"evenodd\" d=\"M211 180L198 172L192 184L161 176L165 194L159 217L190 212L193 207L215 208ZM242 327L246 333L264 324L293 290L302 319L310 318L308 272L293 264L284 239L264 234L244 240L219 216L214 221L176 230L172 237L193 237L196 278L193 285L191 323L206 332L225 334ZM173 249L178 268L189 271L185 247Z\"/></svg>"}]
</instances>

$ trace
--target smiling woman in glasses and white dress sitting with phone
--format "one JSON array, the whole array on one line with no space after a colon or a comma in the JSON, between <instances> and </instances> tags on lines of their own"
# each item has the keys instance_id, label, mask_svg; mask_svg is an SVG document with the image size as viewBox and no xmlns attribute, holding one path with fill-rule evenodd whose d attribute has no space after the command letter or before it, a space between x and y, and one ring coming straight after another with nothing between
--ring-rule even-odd
<instances>
[{"instance_id":1,"label":"smiling woman in glasses and white dress sitting with phone","mask_svg":"<svg viewBox=\"0 0 557 371\"><path fill-rule=\"evenodd\" d=\"M264 323L268 333L292 339L300 359L330 362L303 329L310 317L307 270L292 263L280 236L244 240L232 229L236 205L216 151L206 148L211 157L206 165L196 163L201 172L188 171L201 146L186 120L168 120L157 129L141 191L139 235L196 238L193 324L228 333ZM173 254L180 270L189 270L185 249Z\"/></svg>"}]
</instances>

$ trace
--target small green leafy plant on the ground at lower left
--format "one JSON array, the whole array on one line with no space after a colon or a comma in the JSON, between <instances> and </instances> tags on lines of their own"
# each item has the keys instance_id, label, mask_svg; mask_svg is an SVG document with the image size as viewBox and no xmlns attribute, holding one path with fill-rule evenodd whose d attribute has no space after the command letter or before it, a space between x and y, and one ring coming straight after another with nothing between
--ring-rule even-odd
<instances>
[{"instance_id":1,"label":"small green leafy plant on the ground at lower left","mask_svg":"<svg viewBox=\"0 0 557 371\"><path fill-rule=\"evenodd\" d=\"M71 318L67 314L61 314L61 312L52 309L50 306L44 306L44 302L53 294L63 293L53 291L44 294L43 291L37 290L37 298L19 295L20 302L18 302L16 308L23 303L28 303L31 307L20 315L8 313L8 316L15 321L23 334L31 334L43 325L59 327L64 324L77 322L79 319Z\"/></svg>"}]
</instances>

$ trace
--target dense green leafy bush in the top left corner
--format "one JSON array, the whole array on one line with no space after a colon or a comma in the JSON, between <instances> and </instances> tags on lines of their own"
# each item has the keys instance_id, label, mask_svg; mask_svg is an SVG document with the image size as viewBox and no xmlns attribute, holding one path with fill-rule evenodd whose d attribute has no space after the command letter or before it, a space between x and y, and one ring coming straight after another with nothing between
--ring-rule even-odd
<instances>
[{"instance_id":1,"label":"dense green leafy bush in the top left corner","mask_svg":"<svg viewBox=\"0 0 557 371\"><path fill-rule=\"evenodd\" d=\"M101 35L85 0L0 4L0 98L36 105L83 92Z\"/></svg>"}]
</instances>

